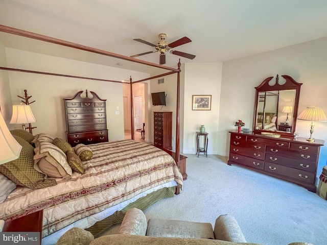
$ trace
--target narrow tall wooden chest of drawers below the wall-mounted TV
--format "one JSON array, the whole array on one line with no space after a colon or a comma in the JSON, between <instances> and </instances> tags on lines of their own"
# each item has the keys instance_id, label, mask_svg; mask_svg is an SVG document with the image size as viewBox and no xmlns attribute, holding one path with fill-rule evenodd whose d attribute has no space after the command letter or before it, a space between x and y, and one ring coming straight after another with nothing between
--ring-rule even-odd
<instances>
[{"instance_id":1,"label":"narrow tall wooden chest of drawers below the wall-mounted TV","mask_svg":"<svg viewBox=\"0 0 327 245\"><path fill-rule=\"evenodd\" d=\"M154 112L153 144L157 148L172 150L172 112Z\"/></svg>"}]
</instances>

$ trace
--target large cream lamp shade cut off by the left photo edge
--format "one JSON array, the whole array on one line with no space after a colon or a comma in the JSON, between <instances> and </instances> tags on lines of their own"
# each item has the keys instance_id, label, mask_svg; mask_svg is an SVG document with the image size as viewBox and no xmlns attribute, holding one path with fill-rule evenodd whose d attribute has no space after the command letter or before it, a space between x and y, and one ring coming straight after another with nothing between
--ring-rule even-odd
<instances>
[{"instance_id":1,"label":"large cream lamp shade cut off by the left photo edge","mask_svg":"<svg viewBox=\"0 0 327 245\"><path fill-rule=\"evenodd\" d=\"M21 145L9 132L6 122L0 112L0 164L10 162L19 157Z\"/></svg>"}]
</instances>

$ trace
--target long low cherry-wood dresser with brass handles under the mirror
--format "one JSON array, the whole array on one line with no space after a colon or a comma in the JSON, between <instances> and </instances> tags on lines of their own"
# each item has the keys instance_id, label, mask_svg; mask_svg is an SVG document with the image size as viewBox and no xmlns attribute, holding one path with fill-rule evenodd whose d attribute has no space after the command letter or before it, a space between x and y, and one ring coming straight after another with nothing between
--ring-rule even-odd
<instances>
[{"instance_id":1,"label":"long low cherry-wood dresser with brass handles under the mirror","mask_svg":"<svg viewBox=\"0 0 327 245\"><path fill-rule=\"evenodd\" d=\"M316 192L320 146L323 140L286 139L229 132L228 165L250 167L261 173L299 184Z\"/></svg>"}]
</instances>

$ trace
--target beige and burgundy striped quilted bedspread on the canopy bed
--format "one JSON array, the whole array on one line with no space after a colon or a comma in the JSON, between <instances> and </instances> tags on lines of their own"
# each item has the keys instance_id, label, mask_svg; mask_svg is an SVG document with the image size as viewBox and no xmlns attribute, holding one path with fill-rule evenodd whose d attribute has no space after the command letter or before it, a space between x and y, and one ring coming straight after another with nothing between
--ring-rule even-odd
<instances>
[{"instance_id":1,"label":"beige and burgundy striped quilted bedspread on the canopy bed","mask_svg":"<svg viewBox=\"0 0 327 245\"><path fill-rule=\"evenodd\" d=\"M73 172L71 180L43 189L16 188L0 204L0 218L43 209L44 237L160 184L175 180L182 187L174 159L152 145L120 140L88 147L94 157L83 162L83 175Z\"/></svg>"}]
</instances>

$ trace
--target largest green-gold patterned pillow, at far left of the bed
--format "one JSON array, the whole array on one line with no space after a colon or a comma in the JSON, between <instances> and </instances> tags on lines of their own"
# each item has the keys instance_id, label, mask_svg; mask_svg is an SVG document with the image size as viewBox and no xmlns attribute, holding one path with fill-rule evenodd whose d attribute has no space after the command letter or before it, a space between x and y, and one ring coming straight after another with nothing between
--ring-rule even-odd
<instances>
[{"instance_id":1,"label":"largest green-gold patterned pillow, at far left of the bed","mask_svg":"<svg viewBox=\"0 0 327 245\"><path fill-rule=\"evenodd\" d=\"M17 185L32 189L56 185L56 180L45 180L44 175L34 169L33 146L19 136L13 137L22 146L20 155L16 160L0 165L0 172Z\"/></svg>"}]
</instances>

